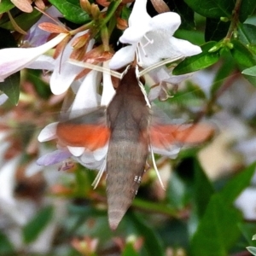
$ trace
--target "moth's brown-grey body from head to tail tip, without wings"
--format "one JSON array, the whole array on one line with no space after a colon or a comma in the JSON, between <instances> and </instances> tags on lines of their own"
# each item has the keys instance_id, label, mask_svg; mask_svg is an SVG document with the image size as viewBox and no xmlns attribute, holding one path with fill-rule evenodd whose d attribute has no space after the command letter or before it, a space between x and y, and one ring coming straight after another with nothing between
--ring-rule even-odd
<instances>
[{"instance_id":1,"label":"moth's brown-grey body from head to tail tip, without wings","mask_svg":"<svg viewBox=\"0 0 256 256\"><path fill-rule=\"evenodd\" d=\"M148 155L149 108L131 67L107 109L108 221L115 230L137 194Z\"/></svg>"}]
</instances>

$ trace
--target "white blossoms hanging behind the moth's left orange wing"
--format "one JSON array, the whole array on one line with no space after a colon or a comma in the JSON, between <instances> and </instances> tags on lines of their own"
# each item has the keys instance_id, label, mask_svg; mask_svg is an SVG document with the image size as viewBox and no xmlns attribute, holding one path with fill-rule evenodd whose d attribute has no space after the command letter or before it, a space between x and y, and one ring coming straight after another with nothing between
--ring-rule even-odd
<instances>
[{"instance_id":1,"label":"white blossoms hanging behind the moth's left orange wing","mask_svg":"<svg viewBox=\"0 0 256 256\"><path fill-rule=\"evenodd\" d=\"M108 105L113 98L115 91L109 74L103 74L102 98L97 94L102 73L92 70L79 84L79 90L75 96L72 106L68 109L69 119L84 115L88 109ZM56 126L52 123L44 127L38 136L40 142L45 142L57 138ZM49 166L73 157L80 164L90 169L100 169L108 151L108 145L95 151L90 151L83 147L71 147L68 145L58 145L58 150L45 154L38 159L38 165Z\"/></svg>"}]
</instances>

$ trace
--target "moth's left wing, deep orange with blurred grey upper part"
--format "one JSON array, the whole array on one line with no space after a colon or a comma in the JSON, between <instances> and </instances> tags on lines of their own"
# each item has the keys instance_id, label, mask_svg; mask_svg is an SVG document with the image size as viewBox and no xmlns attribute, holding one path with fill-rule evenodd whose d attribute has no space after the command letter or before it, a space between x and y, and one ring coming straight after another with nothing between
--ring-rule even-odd
<instances>
[{"instance_id":1,"label":"moth's left wing, deep orange with blurred grey upper part","mask_svg":"<svg viewBox=\"0 0 256 256\"><path fill-rule=\"evenodd\" d=\"M110 136L106 108L97 108L77 118L61 121L56 134L64 145L84 147L90 151L103 148Z\"/></svg>"}]
</instances>

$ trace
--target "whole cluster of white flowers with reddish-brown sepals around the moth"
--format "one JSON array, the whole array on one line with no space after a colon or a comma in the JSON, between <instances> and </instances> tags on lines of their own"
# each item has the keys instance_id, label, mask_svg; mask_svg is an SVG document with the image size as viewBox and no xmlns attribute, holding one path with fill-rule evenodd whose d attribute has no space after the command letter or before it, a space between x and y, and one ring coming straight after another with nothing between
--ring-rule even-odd
<instances>
[{"instance_id":1,"label":"whole cluster of white flowers with reddish-brown sepals around the moth","mask_svg":"<svg viewBox=\"0 0 256 256\"><path fill-rule=\"evenodd\" d=\"M105 38L103 36L102 47L96 47L93 38L95 33L90 26L70 32L59 21L56 26L52 20L43 16L37 24L32 26L25 38L26 44L33 47L0 50L0 81L3 82L11 74L25 67L52 72L49 84L53 94L65 93L69 87L73 91L73 103L67 109L69 118L72 119L84 113L84 109L86 111L86 109L107 106L113 98L114 90L109 73L102 75L96 70L84 72L84 67L73 65L68 61L70 58L96 65L103 64L103 67L111 69L119 69L132 61L137 61L138 66L146 68L162 60L168 59L172 62L201 53L199 46L173 37L173 33L181 24L179 15L168 12L151 18L147 13L146 3L147 0L135 2L128 20L129 27L119 38L121 43L127 45L119 49L113 57L112 50L106 44L108 36L105 35ZM95 6L89 4L85 7L90 14L100 16L98 10L93 11ZM53 18L61 16L54 7L48 9L47 13ZM47 41L49 36L55 32L59 35ZM49 55L51 49L55 49L55 55ZM84 54L81 55L82 53ZM166 66L154 68L149 75L158 84L149 94L150 100L160 96L166 83L178 84L189 76L174 76L172 70L170 71ZM101 81L103 89L99 90ZM101 95L99 91L102 91ZM47 125L41 131L38 140L45 142L57 138L56 126L57 123ZM99 169L108 150L105 147L91 152L87 148L63 144L58 144L57 148L54 152L41 157L38 164L48 166L73 156L82 165L90 169Z\"/></svg>"}]
</instances>

